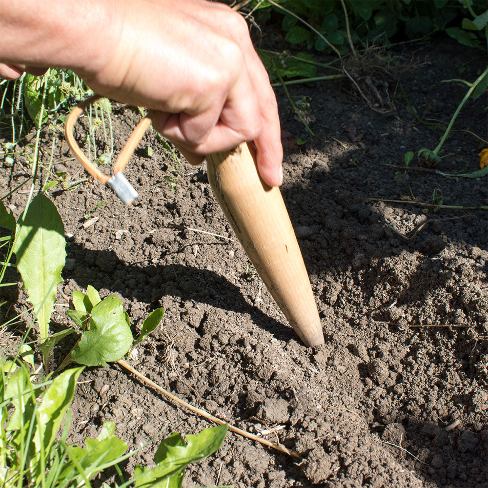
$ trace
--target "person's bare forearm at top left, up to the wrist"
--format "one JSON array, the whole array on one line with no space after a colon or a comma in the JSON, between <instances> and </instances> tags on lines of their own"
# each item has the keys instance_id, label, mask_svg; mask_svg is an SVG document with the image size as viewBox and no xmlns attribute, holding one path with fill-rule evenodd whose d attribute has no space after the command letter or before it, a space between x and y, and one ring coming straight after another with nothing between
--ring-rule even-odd
<instances>
[{"instance_id":1,"label":"person's bare forearm at top left, up to the wrist","mask_svg":"<svg viewBox=\"0 0 488 488\"><path fill-rule=\"evenodd\" d=\"M112 0L0 0L0 62L96 72L121 32L113 12Z\"/></svg>"}]
</instances>

